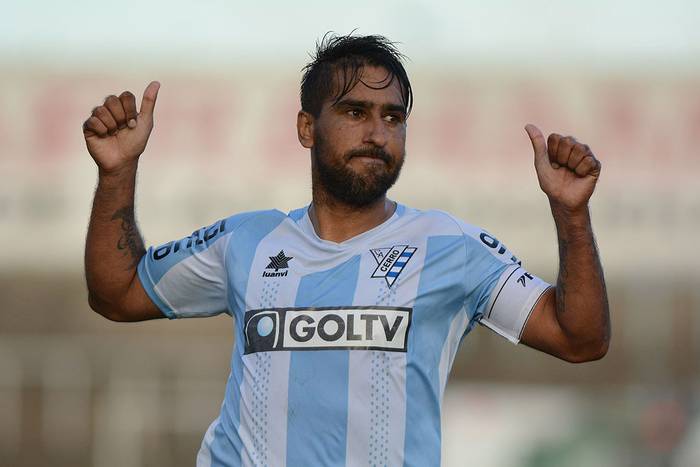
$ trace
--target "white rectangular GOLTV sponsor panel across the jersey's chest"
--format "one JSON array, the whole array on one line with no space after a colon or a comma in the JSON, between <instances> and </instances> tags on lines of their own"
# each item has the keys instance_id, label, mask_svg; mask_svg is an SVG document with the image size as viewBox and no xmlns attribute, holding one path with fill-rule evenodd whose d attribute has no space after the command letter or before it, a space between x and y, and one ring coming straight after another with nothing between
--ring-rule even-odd
<instances>
[{"instance_id":1,"label":"white rectangular GOLTV sponsor panel across the jersey's chest","mask_svg":"<svg viewBox=\"0 0 700 467\"><path fill-rule=\"evenodd\" d=\"M245 354L276 350L406 352L411 308L271 308L245 314Z\"/></svg>"}]
</instances>

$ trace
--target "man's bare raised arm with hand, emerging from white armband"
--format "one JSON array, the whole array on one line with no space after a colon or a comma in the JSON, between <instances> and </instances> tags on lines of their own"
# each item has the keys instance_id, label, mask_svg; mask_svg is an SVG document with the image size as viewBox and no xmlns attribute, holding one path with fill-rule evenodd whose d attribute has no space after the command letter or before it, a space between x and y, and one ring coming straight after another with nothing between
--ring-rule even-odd
<instances>
[{"instance_id":1,"label":"man's bare raised arm with hand, emerging from white armband","mask_svg":"<svg viewBox=\"0 0 700 467\"><path fill-rule=\"evenodd\" d=\"M525 130L557 227L559 276L532 312L522 342L570 362L597 360L610 343L608 297L588 211L600 162L571 136L553 133L545 142L536 126Z\"/></svg>"}]
</instances>

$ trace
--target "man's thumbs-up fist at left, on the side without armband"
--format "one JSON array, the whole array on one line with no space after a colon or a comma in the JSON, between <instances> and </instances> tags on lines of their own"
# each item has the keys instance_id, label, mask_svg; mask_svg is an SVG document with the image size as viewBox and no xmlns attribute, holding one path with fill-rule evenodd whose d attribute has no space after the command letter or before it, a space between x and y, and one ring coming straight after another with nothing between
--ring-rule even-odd
<instances>
[{"instance_id":1,"label":"man's thumbs-up fist at left, on the side without armband","mask_svg":"<svg viewBox=\"0 0 700 467\"><path fill-rule=\"evenodd\" d=\"M103 173L117 172L133 164L146 149L153 129L153 109L160 83L151 82L143 92L140 112L129 91L107 96L83 123L88 152Z\"/></svg>"}]
</instances>

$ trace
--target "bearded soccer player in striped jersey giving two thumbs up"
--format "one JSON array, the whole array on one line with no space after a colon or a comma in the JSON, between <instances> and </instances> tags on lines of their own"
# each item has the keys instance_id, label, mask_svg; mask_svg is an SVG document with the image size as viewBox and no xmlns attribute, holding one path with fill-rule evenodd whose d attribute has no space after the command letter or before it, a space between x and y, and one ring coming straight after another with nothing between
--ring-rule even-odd
<instances>
[{"instance_id":1,"label":"bearded soccer player in striped jersey giving two thumbs up","mask_svg":"<svg viewBox=\"0 0 700 467\"><path fill-rule=\"evenodd\" d=\"M83 125L99 169L86 279L90 306L111 320L234 318L198 466L437 466L443 391L477 323L569 362L607 352L588 211L600 163L587 145L525 126L557 228L553 287L490 233L387 198L412 106L402 55L381 36L326 36L297 116L310 204L235 214L146 250L134 185L159 87L140 109L128 91L108 96Z\"/></svg>"}]
</instances>

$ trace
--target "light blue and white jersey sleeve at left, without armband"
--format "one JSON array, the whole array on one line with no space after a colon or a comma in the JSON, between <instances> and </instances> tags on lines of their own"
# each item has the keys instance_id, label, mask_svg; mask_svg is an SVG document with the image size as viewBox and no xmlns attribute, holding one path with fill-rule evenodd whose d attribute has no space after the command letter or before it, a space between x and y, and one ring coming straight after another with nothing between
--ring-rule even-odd
<instances>
[{"instance_id":1,"label":"light blue and white jersey sleeve at left, without armband","mask_svg":"<svg viewBox=\"0 0 700 467\"><path fill-rule=\"evenodd\" d=\"M138 276L148 296L170 319L228 312L225 254L236 216L191 235L151 246Z\"/></svg>"}]
</instances>

